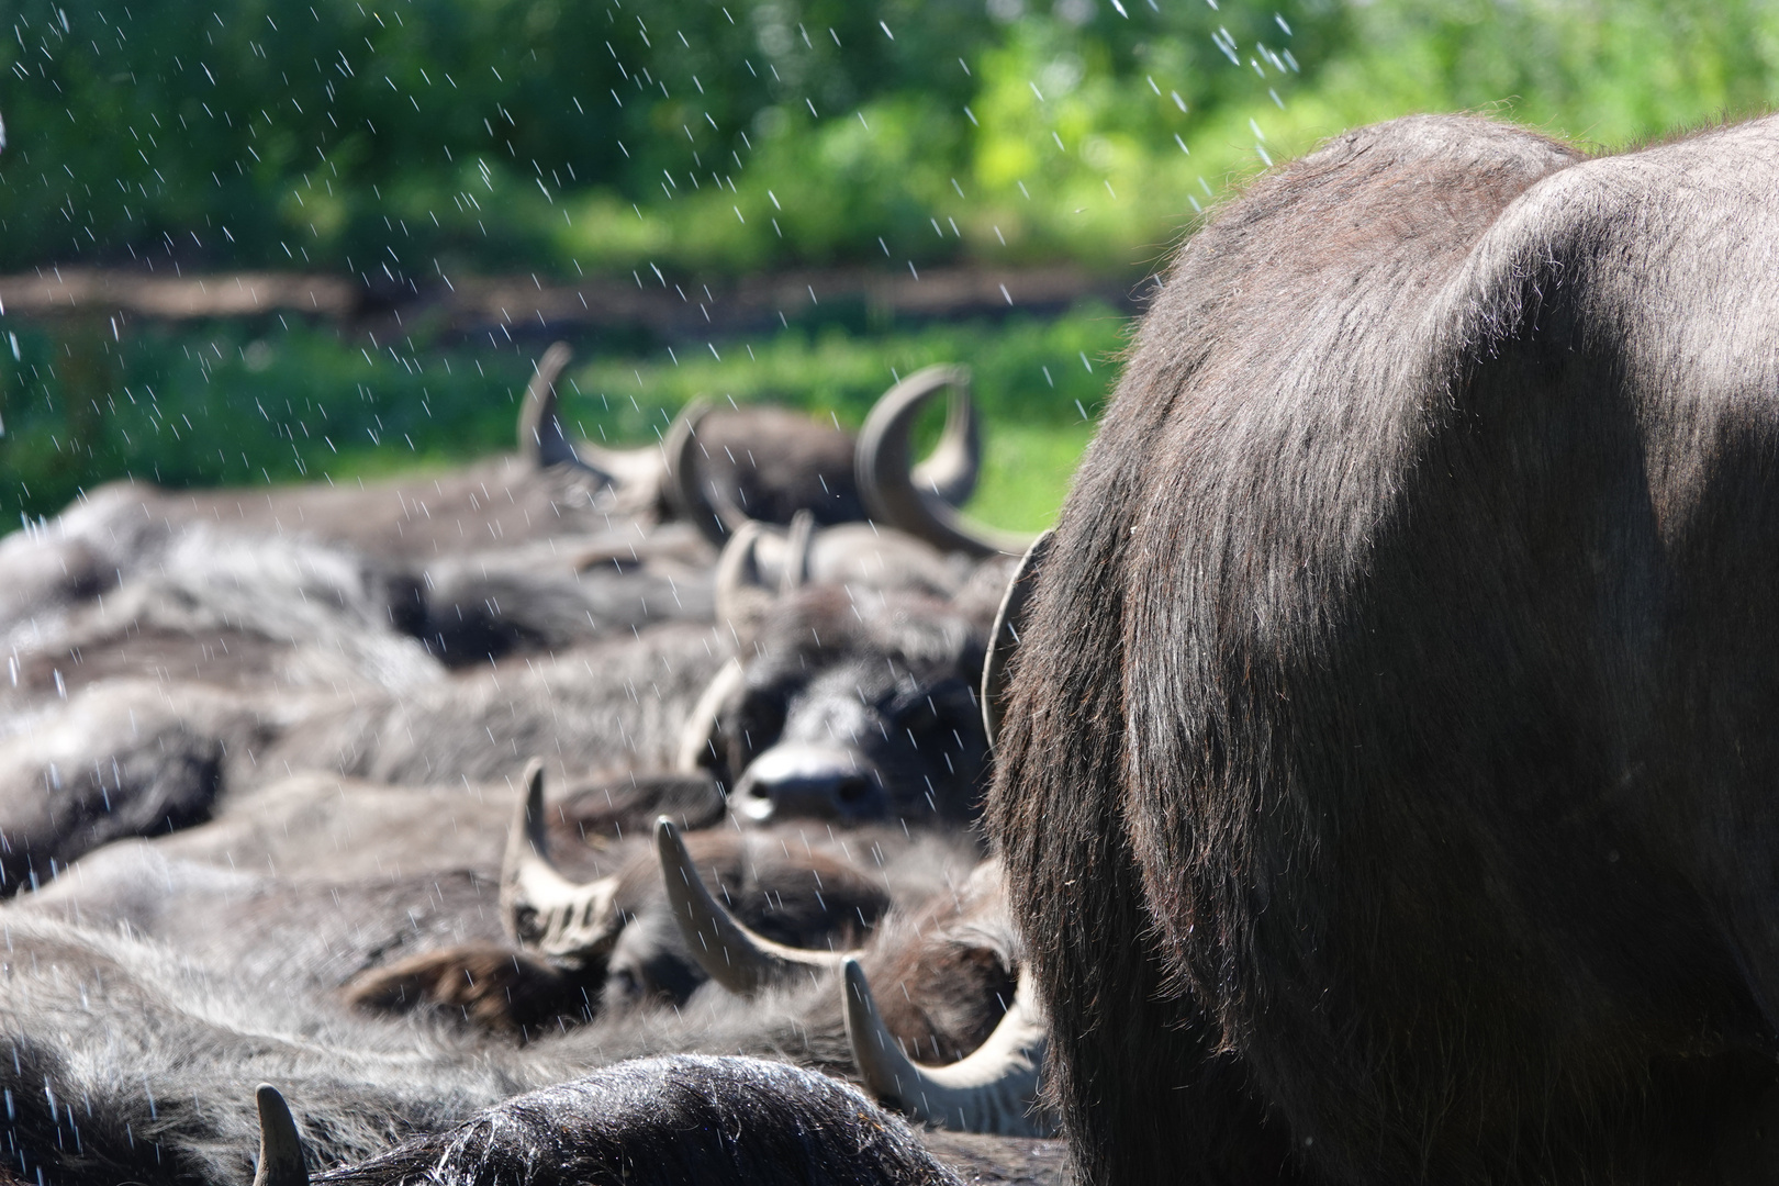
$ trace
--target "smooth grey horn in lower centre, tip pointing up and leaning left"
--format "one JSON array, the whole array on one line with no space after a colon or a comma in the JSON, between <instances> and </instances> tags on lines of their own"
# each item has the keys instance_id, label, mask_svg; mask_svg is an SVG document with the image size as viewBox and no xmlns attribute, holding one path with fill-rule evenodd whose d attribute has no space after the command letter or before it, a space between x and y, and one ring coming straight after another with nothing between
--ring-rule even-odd
<instances>
[{"instance_id":1,"label":"smooth grey horn in lower centre, tip pointing up and leaning left","mask_svg":"<svg viewBox=\"0 0 1779 1186\"><path fill-rule=\"evenodd\" d=\"M799 976L840 967L845 953L808 951L772 942L737 923L704 889L692 864L692 853L680 841L680 829L660 816L655 821L655 850L662 859L662 880L672 918L680 923L685 946L704 973L737 996L754 996Z\"/></svg>"}]
</instances>

